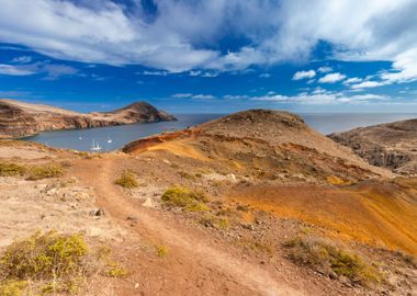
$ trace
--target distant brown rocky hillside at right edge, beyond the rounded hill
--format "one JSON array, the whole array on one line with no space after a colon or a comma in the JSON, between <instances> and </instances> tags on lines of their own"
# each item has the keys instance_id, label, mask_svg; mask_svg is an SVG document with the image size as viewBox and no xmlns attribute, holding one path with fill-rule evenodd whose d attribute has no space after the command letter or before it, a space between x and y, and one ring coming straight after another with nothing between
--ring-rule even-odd
<instances>
[{"instance_id":1,"label":"distant brown rocky hillside at right edge, beyond the rounded hill","mask_svg":"<svg viewBox=\"0 0 417 296\"><path fill-rule=\"evenodd\" d=\"M417 174L417 118L329 135L369 163L402 174Z\"/></svg>"}]
</instances>

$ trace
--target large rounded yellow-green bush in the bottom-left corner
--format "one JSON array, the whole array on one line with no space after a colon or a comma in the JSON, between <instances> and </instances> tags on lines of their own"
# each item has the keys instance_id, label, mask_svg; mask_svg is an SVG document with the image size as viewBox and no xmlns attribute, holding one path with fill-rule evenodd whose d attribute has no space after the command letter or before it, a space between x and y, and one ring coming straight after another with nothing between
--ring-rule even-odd
<instances>
[{"instance_id":1,"label":"large rounded yellow-green bush in the bottom-left corner","mask_svg":"<svg viewBox=\"0 0 417 296\"><path fill-rule=\"evenodd\" d=\"M7 248L0 258L1 283L18 289L22 281L49 281L52 292L75 293L86 276L87 253L81 235L36 232Z\"/></svg>"}]
</instances>

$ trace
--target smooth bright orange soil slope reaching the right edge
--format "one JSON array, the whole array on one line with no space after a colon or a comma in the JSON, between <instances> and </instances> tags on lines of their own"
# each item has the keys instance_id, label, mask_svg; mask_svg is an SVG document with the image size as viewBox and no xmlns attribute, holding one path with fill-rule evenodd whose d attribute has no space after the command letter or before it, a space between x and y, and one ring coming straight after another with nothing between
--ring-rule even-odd
<instances>
[{"instance_id":1,"label":"smooth bright orange soil slope reaching the right edge","mask_svg":"<svg viewBox=\"0 0 417 296\"><path fill-rule=\"evenodd\" d=\"M393 183L349 187L263 184L237 189L228 197L323 226L336 237L417 254L417 197Z\"/></svg>"}]
</instances>

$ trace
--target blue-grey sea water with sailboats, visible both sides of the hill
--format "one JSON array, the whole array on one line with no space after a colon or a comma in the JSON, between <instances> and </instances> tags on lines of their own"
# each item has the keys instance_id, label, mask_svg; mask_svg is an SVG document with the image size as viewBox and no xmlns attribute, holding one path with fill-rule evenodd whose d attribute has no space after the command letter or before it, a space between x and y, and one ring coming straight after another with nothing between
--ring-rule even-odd
<instances>
[{"instance_id":1,"label":"blue-grey sea water with sailboats, visible both sides of the hill","mask_svg":"<svg viewBox=\"0 0 417 296\"><path fill-rule=\"evenodd\" d=\"M101 128L45 132L35 136L25 137L23 139L46 144L50 147L77 149L80 151L90 151L92 143L94 141L102 147L101 151L111 151L122 148L127 143L143 137L159 134L161 132L182 129L189 126L199 125L201 123L222 117L223 115L224 114L178 114L176 115L178 118L177 122L159 122ZM417 113L306 113L300 115L309 126L323 134L342 132L354 127L375 125L380 123L417 118Z\"/></svg>"}]
</instances>

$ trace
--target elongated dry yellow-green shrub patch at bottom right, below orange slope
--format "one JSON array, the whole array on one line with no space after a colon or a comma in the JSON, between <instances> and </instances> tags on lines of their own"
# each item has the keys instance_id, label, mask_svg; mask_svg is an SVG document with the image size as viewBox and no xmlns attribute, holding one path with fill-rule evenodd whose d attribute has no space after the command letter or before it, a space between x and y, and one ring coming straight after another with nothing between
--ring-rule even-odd
<instances>
[{"instance_id":1,"label":"elongated dry yellow-green shrub patch at bottom right, below orange slope","mask_svg":"<svg viewBox=\"0 0 417 296\"><path fill-rule=\"evenodd\" d=\"M369 285L382 280L376 267L364 262L362 258L347 252L336 246L315 238L294 238L284 243L289 258L298 263L319 270L327 275L335 272L350 281Z\"/></svg>"}]
</instances>

